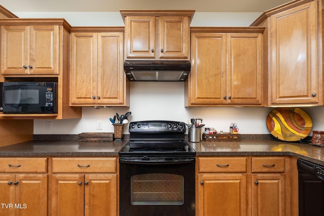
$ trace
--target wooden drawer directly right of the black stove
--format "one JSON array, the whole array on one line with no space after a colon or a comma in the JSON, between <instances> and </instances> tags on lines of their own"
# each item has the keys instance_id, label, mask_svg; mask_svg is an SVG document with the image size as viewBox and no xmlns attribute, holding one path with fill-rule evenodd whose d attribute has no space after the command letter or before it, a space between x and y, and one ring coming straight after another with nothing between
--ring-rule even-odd
<instances>
[{"instance_id":1,"label":"wooden drawer directly right of the black stove","mask_svg":"<svg viewBox=\"0 0 324 216\"><path fill-rule=\"evenodd\" d=\"M199 172L246 172L246 157L199 157Z\"/></svg>"}]
</instances>

